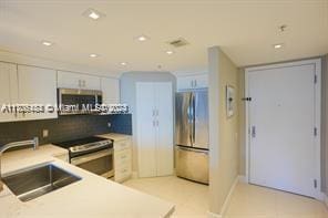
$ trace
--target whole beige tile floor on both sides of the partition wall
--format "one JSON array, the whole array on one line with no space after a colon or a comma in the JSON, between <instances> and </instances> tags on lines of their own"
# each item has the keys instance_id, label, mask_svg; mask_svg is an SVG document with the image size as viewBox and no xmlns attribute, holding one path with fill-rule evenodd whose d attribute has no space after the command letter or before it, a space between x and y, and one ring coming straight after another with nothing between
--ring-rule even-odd
<instances>
[{"instance_id":1,"label":"whole beige tile floor on both sides of the partition wall","mask_svg":"<svg viewBox=\"0 0 328 218\"><path fill-rule=\"evenodd\" d=\"M123 185L172 201L173 218L207 217L208 186L175 176L130 179ZM328 218L328 209L315 199L238 184L225 218Z\"/></svg>"}]
</instances>

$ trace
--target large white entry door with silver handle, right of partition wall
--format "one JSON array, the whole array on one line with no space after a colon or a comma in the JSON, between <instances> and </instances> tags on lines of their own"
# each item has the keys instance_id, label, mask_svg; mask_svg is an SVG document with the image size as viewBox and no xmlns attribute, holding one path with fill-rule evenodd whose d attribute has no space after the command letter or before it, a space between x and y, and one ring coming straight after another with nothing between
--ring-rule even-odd
<instances>
[{"instance_id":1,"label":"large white entry door with silver handle, right of partition wall","mask_svg":"<svg viewBox=\"0 0 328 218\"><path fill-rule=\"evenodd\" d=\"M249 181L315 197L315 64L249 71Z\"/></svg>"}]
</instances>

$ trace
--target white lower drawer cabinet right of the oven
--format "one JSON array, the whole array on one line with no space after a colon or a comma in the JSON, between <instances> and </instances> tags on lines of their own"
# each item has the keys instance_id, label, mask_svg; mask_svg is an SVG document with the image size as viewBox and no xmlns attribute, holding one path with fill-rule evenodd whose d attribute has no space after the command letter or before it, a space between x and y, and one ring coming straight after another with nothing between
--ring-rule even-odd
<instances>
[{"instance_id":1,"label":"white lower drawer cabinet right of the oven","mask_svg":"<svg viewBox=\"0 0 328 218\"><path fill-rule=\"evenodd\" d=\"M132 175L132 141L114 141L114 180L122 183Z\"/></svg>"}]
</instances>

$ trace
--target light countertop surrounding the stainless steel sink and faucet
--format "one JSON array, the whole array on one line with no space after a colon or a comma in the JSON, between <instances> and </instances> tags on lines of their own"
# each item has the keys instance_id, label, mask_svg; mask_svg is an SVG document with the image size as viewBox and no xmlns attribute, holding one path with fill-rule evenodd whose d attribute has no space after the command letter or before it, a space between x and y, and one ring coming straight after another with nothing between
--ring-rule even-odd
<instances>
[{"instance_id":1,"label":"light countertop surrounding the stainless steel sink and faucet","mask_svg":"<svg viewBox=\"0 0 328 218\"><path fill-rule=\"evenodd\" d=\"M33 200L20 201L6 186L0 193L0 217L74 218L74 217L170 217L174 205L96 176L53 156L68 150L54 145L4 153L2 173L43 165L51 162L82 179Z\"/></svg>"}]
</instances>

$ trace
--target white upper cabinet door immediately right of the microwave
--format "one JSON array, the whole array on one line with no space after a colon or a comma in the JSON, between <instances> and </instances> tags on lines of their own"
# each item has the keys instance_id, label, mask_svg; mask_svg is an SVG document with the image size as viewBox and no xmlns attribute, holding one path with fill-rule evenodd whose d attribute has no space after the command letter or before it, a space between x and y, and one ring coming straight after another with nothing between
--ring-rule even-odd
<instances>
[{"instance_id":1,"label":"white upper cabinet door immediately right of the microwave","mask_svg":"<svg viewBox=\"0 0 328 218\"><path fill-rule=\"evenodd\" d=\"M104 104L120 103L120 81L116 79L102 77L101 90L103 92Z\"/></svg>"}]
</instances>

